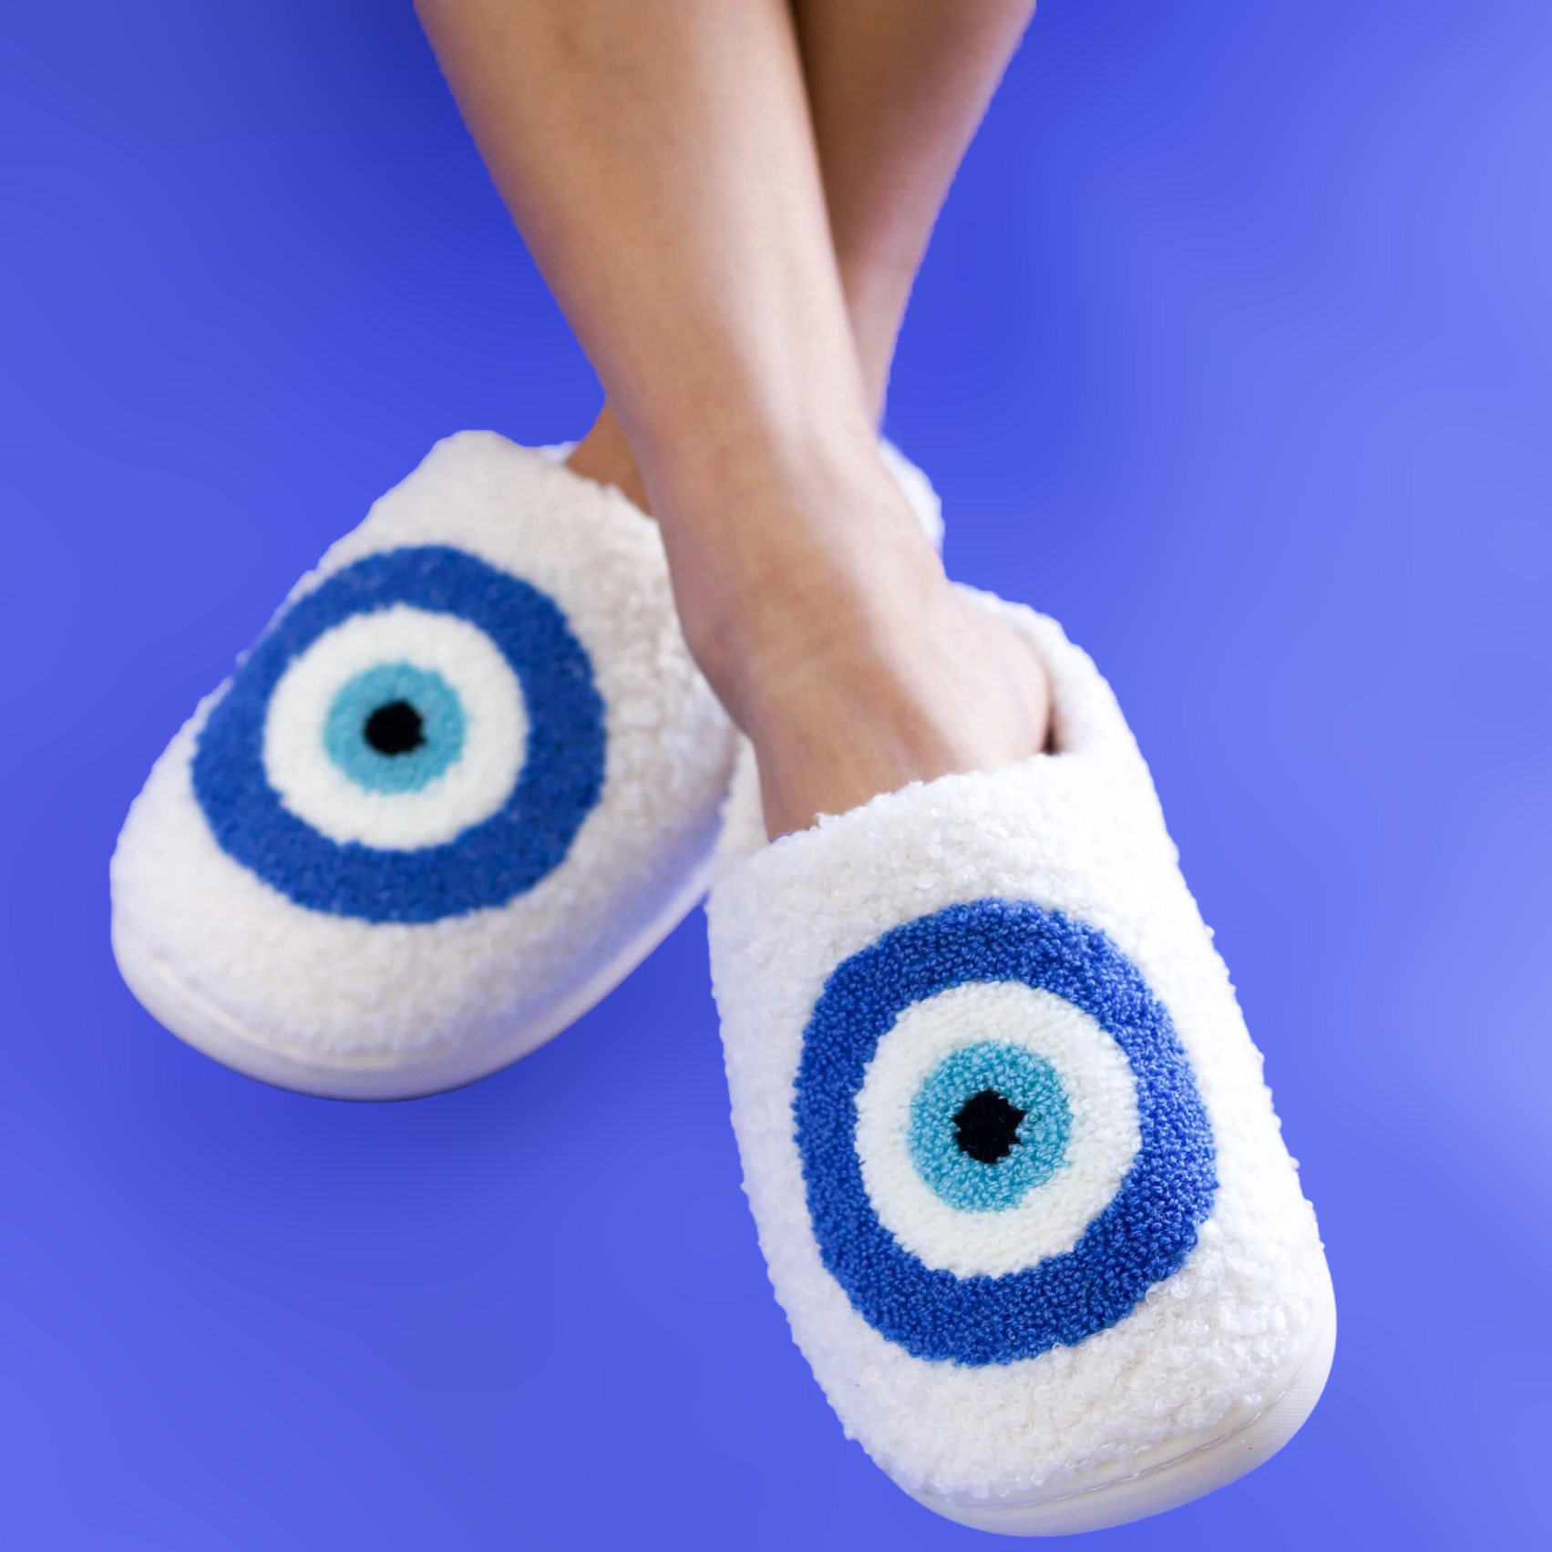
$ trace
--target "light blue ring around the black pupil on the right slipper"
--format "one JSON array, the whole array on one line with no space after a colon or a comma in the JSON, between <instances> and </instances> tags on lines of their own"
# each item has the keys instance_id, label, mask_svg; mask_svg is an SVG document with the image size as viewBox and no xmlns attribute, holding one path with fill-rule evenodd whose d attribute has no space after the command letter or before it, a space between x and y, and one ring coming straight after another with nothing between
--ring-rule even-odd
<instances>
[{"instance_id":1,"label":"light blue ring around the black pupil on the right slipper","mask_svg":"<svg viewBox=\"0 0 1552 1552\"><path fill-rule=\"evenodd\" d=\"M990 1164L964 1150L956 1124L978 1094L1024 1113L1006 1155ZM1006 1212L1062 1167L1071 1130L1072 1113L1051 1063L1023 1046L982 1041L945 1057L916 1091L911 1161L951 1207Z\"/></svg>"}]
</instances>

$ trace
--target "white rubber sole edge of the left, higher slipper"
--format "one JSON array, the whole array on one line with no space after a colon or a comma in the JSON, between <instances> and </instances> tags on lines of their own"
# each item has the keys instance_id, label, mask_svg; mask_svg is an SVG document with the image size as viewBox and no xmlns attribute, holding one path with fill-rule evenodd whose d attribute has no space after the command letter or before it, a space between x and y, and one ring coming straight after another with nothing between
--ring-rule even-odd
<instances>
[{"instance_id":1,"label":"white rubber sole edge of the left, higher slipper","mask_svg":"<svg viewBox=\"0 0 1552 1552\"><path fill-rule=\"evenodd\" d=\"M584 981L549 1013L494 1041L430 1046L390 1055L359 1055L320 1060L255 1034L223 1007L185 986L155 950L113 923L113 958L135 999L174 1035L222 1066L318 1099L424 1099L462 1088L500 1072L574 1024L601 1003L663 942L695 908L711 882L712 861L691 874L667 908L619 954Z\"/></svg>"}]
</instances>

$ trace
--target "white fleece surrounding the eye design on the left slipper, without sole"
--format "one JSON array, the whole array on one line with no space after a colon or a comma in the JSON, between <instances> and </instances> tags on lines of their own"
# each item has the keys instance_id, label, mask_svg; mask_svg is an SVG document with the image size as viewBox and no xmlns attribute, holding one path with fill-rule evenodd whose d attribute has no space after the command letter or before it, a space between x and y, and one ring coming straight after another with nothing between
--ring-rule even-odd
<instances>
[{"instance_id":1,"label":"white fleece surrounding the eye design on the left slipper, without sole","mask_svg":"<svg viewBox=\"0 0 1552 1552\"><path fill-rule=\"evenodd\" d=\"M149 959L255 1043L338 1068L346 1088L352 1071L383 1066L404 1069L410 1093L422 1068L467 1082L551 1034L553 1010L601 967L629 970L672 925L664 913L694 902L734 754L684 647L656 525L494 433L439 442L287 604L363 556L427 543L542 588L591 658L604 792L565 861L501 908L424 925L304 909L228 857L196 801L189 760L223 686L157 762L112 866L121 962Z\"/></svg>"}]
</instances>

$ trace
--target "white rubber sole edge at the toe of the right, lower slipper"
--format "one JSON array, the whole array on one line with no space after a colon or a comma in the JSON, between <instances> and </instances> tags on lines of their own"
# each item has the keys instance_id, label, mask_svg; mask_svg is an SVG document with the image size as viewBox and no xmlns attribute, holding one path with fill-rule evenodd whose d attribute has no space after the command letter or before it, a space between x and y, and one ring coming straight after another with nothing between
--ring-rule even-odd
<instances>
[{"instance_id":1,"label":"white rubber sole edge at the toe of the right, lower slipper","mask_svg":"<svg viewBox=\"0 0 1552 1552\"><path fill-rule=\"evenodd\" d=\"M1200 1434L1184 1434L1128 1460L1065 1482L1051 1498L959 1502L936 1493L911 1496L933 1513L1006 1536L1069 1536L1161 1515L1254 1471L1302 1426L1325 1389L1336 1352L1336 1297L1325 1279L1308 1344L1288 1366L1276 1400L1231 1415Z\"/></svg>"}]
</instances>

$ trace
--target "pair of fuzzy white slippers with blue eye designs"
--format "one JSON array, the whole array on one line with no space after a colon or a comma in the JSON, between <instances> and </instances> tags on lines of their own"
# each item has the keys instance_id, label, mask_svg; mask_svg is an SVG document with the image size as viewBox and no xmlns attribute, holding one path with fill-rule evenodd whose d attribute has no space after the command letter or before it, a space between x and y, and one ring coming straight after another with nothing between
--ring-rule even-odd
<instances>
[{"instance_id":1,"label":"pair of fuzzy white slippers with blue eye designs","mask_svg":"<svg viewBox=\"0 0 1552 1552\"><path fill-rule=\"evenodd\" d=\"M1110 688L1052 621L976 598L1044 663L1055 751L768 844L656 526L554 455L455 436L157 762L113 948L217 1060L397 1099L542 1044L715 878L733 1121L804 1355L920 1502L1054 1535L1280 1448L1335 1305Z\"/></svg>"}]
</instances>

